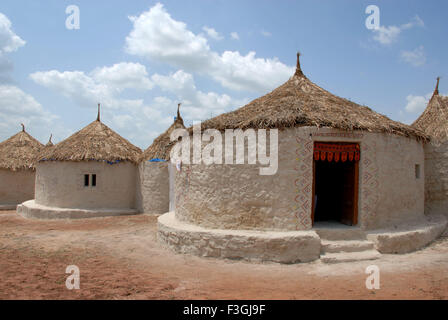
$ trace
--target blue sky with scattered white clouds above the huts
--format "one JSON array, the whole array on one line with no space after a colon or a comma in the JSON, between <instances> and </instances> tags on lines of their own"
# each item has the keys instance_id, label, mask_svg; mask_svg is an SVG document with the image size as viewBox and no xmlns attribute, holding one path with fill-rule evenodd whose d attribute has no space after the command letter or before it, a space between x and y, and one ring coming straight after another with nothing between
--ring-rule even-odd
<instances>
[{"instance_id":1,"label":"blue sky with scattered white clouds above the huts","mask_svg":"<svg viewBox=\"0 0 448 320\"><path fill-rule=\"evenodd\" d=\"M80 28L66 28L66 7ZM365 26L368 5L380 28ZM25 1L0 4L0 140L58 142L96 117L145 149L172 122L236 109L285 82L296 52L313 82L411 123L441 76L448 2Z\"/></svg>"}]
</instances>

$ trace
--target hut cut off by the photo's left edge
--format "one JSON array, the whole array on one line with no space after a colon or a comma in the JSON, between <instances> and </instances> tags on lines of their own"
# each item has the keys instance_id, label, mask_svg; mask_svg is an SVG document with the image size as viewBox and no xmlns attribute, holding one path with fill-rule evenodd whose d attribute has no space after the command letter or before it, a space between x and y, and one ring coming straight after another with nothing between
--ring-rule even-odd
<instances>
[{"instance_id":1,"label":"hut cut off by the photo's left edge","mask_svg":"<svg viewBox=\"0 0 448 320\"><path fill-rule=\"evenodd\" d=\"M0 209L34 198L35 160L43 145L25 131L0 143Z\"/></svg>"}]
</instances>

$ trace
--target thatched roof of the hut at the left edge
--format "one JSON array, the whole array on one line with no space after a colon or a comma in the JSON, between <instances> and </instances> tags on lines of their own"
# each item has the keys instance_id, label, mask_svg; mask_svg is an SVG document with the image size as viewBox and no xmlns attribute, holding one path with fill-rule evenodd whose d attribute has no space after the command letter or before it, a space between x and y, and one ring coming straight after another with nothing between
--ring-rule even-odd
<instances>
[{"instance_id":1,"label":"thatched roof of the hut at the left edge","mask_svg":"<svg viewBox=\"0 0 448 320\"><path fill-rule=\"evenodd\" d=\"M43 144L25 131L13 135L0 143L0 168L8 170L34 170L36 156L43 148Z\"/></svg>"}]
</instances>

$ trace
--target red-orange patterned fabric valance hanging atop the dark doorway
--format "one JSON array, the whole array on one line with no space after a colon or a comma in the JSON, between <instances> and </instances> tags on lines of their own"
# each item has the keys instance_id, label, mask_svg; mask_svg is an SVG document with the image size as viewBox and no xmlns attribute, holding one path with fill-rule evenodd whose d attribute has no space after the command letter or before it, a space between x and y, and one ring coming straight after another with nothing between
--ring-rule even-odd
<instances>
[{"instance_id":1,"label":"red-orange patterned fabric valance hanging atop the dark doorway","mask_svg":"<svg viewBox=\"0 0 448 320\"><path fill-rule=\"evenodd\" d=\"M359 161L360 158L359 144L337 144L328 142L316 142L314 144L314 160L322 161Z\"/></svg>"}]
</instances>

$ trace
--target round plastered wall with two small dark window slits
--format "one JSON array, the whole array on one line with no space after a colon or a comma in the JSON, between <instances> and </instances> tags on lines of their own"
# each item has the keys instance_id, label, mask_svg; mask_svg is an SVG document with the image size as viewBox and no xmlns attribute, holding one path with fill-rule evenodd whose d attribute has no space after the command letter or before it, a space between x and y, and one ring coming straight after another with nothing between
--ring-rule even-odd
<instances>
[{"instance_id":1,"label":"round plastered wall with two small dark window slits","mask_svg":"<svg viewBox=\"0 0 448 320\"><path fill-rule=\"evenodd\" d=\"M85 174L96 174L95 187L84 186ZM135 208L136 175L137 166L129 162L39 162L35 200L60 208Z\"/></svg>"}]
</instances>

